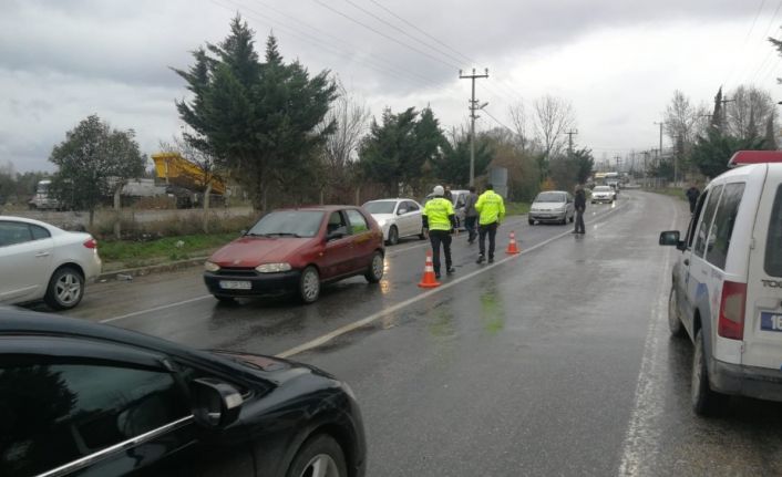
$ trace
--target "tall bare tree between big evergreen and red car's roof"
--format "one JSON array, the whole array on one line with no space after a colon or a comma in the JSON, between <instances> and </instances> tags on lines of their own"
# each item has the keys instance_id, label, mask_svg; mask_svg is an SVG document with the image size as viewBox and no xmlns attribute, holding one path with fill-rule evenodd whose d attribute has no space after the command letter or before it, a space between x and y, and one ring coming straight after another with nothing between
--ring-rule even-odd
<instances>
[{"instance_id":1,"label":"tall bare tree between big evergreen and red car's roof","mask_svg":"<svg viewBox=\"0 0 782 477\"><path fill-rule=\"evenodd\" d=\"M320 201L325 201L325 191L349 182L350 176L358 170L351 167L358 155L359 144L369 123L370 111L367 104L348 93L339 84L339 97L332 103L331 110L323 118L323 125L333 123L333 134L326 138L321 154ZM359 186L360 187L360 186Z\"/></svg>"}]
</instances>

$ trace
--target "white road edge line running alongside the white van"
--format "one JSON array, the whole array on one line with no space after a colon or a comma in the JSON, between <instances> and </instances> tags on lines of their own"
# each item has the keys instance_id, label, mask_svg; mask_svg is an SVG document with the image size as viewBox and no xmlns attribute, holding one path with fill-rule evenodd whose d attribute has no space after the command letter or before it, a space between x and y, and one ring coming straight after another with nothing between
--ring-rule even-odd
<instances>
[{"instance_id":1,"label":"white road edge line running alongside the white van","mask_svg":"<svg viewBox=\"0 0 782 477\"><path fill-rule=\"evenodd\" d=\"M678 217L679 210L675 209L673 220L668 228L669 230L676 227ZM657 301L652 307L649 325L647 326L632 415L625 435L625 443L622 444L621 464L619 465L620 476L648 474L649 469L644 469L642 464L645 460L656 460L659 452L660 431L652 424L662 414L665 395L659 380L665 375L665 370L660 360L660 340L657 328L667 320L668 292L666 286L668 284L670 272L671 260L670 257L667 257L662 274L657 284Z\"/></svg>"}]
</instances>

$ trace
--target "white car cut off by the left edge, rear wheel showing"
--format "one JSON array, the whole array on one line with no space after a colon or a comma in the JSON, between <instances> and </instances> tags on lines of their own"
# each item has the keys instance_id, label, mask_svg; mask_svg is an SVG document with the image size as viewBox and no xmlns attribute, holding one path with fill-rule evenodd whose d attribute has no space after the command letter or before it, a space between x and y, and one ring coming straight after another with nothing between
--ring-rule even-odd
<instances>
[{"instance_id":1,"label":"white car cut off by the left edge, rear wheel showing","mask_svg":"<svg viewBox=\"0 0 782 477\"><path fill-rule=\"evenodd\" d=\"M75 307L101 273L97 242L39 220L0 216L0 302Z\"/></svg>"}]
</instances>

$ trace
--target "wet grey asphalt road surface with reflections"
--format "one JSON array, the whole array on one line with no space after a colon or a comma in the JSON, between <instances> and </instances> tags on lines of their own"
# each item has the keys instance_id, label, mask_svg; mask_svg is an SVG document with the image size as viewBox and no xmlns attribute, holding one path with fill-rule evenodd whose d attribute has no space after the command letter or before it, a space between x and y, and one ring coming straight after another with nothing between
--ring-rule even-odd
<instances>
[{"instance_id":1,"label":"wet grey asphalt road surface with reflections","mask_svg":"<svg viewBox=\"0 0 782 477\"><path fill-rule=\"evenodd\" d=\"M583 238L508 220L498 245L515 229L524 253L491 268L459 237L433 292L412 240L388 248L380 286L350 279L310 307L217 304L188 270L93 286L70 314L335 373L361 403L369 476L782 475L782 405L689 409L691 345L666 322L677 252L657 246L686 205L628 191L587 212Z\"/></svg>"}]
</instances>

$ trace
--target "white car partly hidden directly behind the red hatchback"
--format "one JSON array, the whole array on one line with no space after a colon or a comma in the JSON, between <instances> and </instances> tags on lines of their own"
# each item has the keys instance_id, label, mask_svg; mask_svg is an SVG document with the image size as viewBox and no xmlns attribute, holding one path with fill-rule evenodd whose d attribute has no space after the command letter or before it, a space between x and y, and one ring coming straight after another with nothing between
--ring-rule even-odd
<instances>
[{"instance_id":1,"label":"white car partly hidden directly behind the red hatchback","mask_svg":"<svg viewBox=\"0 0 782 477\"><path fill-rule=\"evenodd\" d=\"M423 207L413 199L371 200L363 208L383 230L383 239L388 245L395 245L403 237L426 238L421 218Z\"/></svg>"}]
</instances>

